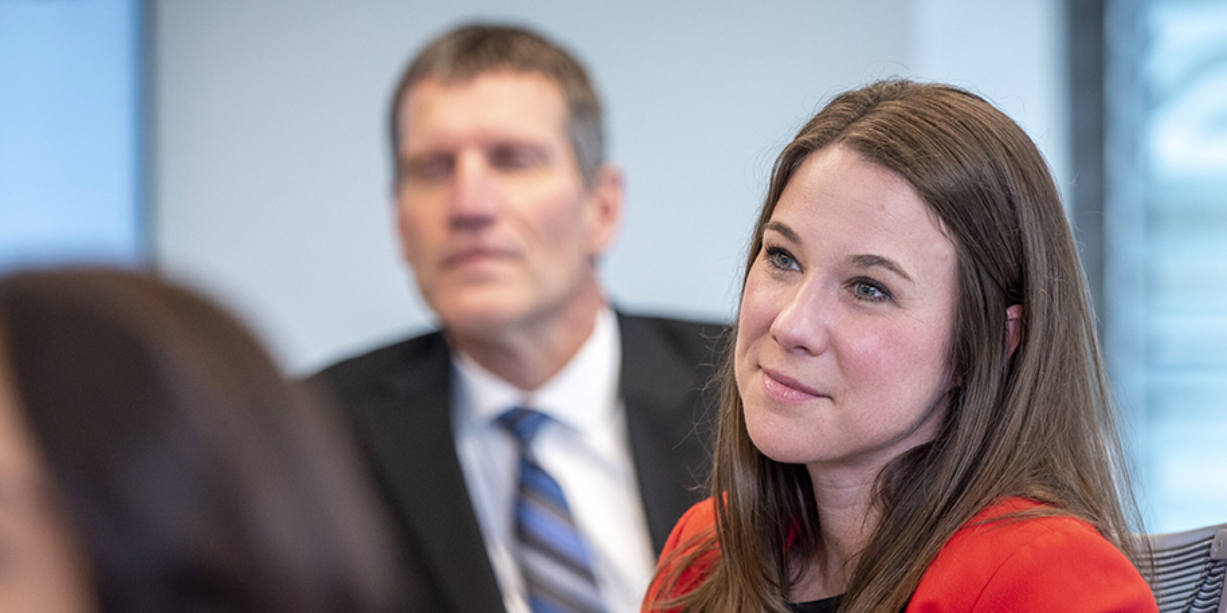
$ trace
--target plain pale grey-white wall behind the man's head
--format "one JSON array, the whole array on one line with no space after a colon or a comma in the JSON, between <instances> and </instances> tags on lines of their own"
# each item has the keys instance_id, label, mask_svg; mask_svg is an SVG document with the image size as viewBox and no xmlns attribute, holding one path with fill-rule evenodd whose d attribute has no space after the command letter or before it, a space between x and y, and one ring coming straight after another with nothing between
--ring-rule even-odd
<instances>
[{"instance_id":1,"label":"plain pale grey-white wall behind the man's head","mask_svg":"<svg viewBox=\"0 0 1227 613\"><path fill-rule=\"evenodd\" d=\"M827 97L870 80L988 94L1065 177L1058 0L155 6L157 260L296 371L429 326L394 242L384 115L407 58L463 20L530 25L588 64L627 174L604 270L629 310L731 318L775 153Z\"/></svg>"}]
</instances>

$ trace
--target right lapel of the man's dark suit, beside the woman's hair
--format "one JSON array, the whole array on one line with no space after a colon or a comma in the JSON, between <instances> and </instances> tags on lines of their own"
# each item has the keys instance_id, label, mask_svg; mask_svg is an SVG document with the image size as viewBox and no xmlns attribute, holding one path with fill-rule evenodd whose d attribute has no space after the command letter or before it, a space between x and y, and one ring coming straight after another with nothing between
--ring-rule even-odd
<instances>
[{"instance_id":1,"label":"right lapel of the man's dark suit, beside the woman's hair","mask_svg":"<svg viewBox=\"0 0 1227 613\"><path fill-rule=\"evenodd\" d=\"M620 389L627 436L652 544L659 554L674 524L706 498L709 449L702 434L706 373L679 357L652 320L618 314Z\"/></svg>"}]
</instances>

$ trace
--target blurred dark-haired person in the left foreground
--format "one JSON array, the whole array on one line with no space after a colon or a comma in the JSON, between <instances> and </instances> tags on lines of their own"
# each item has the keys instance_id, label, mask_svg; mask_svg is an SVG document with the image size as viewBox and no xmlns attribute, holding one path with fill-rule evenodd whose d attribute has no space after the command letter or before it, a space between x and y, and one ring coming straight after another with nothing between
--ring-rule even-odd
<instances>
[{"instance_id":1,"label":"blurred dark-haired person in the left foreground","mask_svg":"<svg viewBox=\"0 0 1227 613\"><path fill-rule=\"evenodd\" d=\"M388 611L382 520L336 430L189 292L0 280L0 611Z\"/></svg>"}]
</instances>

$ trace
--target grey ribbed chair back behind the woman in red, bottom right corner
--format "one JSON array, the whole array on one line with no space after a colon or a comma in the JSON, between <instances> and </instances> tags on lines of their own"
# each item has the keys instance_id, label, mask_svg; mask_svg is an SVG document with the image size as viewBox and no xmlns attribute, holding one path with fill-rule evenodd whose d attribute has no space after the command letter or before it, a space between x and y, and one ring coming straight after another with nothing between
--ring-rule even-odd
<instances>
[{"instance_id":1,"label":"grey ribbed chair back behind the woman in red, bottom right corner","mask_svg":"<svg viewBox=\"0 0 1227 613\"><path fill-rule=\"evenodd\" d=\"M1152 568L1142 574L1161 613L1227 613L1227 524L1146 538Z\"/></svg>"}]
</instances>

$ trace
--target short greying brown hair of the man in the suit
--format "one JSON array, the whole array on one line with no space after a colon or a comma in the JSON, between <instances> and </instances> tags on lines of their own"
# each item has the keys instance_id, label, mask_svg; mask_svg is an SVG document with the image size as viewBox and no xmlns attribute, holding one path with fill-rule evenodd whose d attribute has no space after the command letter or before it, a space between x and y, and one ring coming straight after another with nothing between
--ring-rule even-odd
<instances>
[{"instance_id":1,"label":"short greying brown hair of the man in the suit","mask_svg":"<svg viewBox=\"0 0 1227 613\"><path fill-rule=\"evenodd\" d=\"M389 109L391 159L400 177L400 105L415 85L427 77L465 82L499 70L540 72L557 81L567 103L567 137L584 184L591 186L605 163L601 101L584 66L566 49L518 27L472 23L436 38L410 63Z\"/></svg>"}]
</instances>

